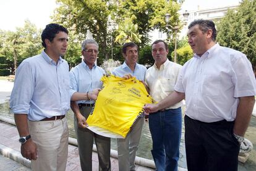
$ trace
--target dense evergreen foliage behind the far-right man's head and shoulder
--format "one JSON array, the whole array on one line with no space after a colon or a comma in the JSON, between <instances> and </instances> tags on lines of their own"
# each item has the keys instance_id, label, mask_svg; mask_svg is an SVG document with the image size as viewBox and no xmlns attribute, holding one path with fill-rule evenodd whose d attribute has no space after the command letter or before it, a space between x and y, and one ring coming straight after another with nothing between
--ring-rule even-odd
<instances>
[{"instance_id":1,"label":"dense evergreen foliage behind the far-right man's head and shoulder","mask_svg":"<svg viewBox=\"0 0 256 171\"><path fill-rule=\"evenodd\" d=\"M229 10L218 24L217 41L247 55L256 70L256 1L244 0L236 10Z\"/></svg>"}]
</instances>

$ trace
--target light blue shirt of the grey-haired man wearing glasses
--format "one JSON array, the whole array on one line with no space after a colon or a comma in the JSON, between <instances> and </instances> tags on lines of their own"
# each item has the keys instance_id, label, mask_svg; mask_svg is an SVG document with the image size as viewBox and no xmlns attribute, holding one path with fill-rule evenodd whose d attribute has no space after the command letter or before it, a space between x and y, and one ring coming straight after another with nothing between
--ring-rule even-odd
<instances>
[{"instance_id":1,"label":"light blue shirt of the grey-haired man wearing glasses","mask_svg":"<svg viewBox=\"0 0 256 171\"><path fill-rule=\"evenodd\" d=\"M105 71L100 67L94 65L92 70L89 66L82 60L79 65L72 68L69 72L70 78L70 97L75 92L86 93L93 89L101 88L102 82L101 77L105 74ZM79 100L77 103L95 103L94 100Z\"/></svg>"}]
</instances>

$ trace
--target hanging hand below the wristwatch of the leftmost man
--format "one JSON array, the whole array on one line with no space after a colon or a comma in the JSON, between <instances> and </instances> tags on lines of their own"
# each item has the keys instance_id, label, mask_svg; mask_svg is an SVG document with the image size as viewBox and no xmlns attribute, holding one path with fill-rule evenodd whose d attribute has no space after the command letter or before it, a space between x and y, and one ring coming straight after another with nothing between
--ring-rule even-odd
<instances>
[{"instance_id":1,"label":"hanging hand below the wristwatch of the leftmost man","mask_svg":"<svg viewBox=\"0 0 256 171\"><path fill-rule=\"evenodd\" d=\"M30 161L37 159L37 146L31 138L20 146L20 153Z\"/></svg>"}]
</instances>

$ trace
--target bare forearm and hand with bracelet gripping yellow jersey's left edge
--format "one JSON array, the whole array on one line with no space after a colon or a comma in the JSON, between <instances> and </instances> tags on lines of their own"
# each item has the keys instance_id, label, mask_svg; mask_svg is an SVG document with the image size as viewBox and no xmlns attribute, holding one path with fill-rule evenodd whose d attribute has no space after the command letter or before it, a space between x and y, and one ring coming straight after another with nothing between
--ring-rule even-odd
<instances>
[{"instance_id":1,"label":"bare forearm and hand with bracelet gripping yellow jersey's left edge","mask_svg":"<svg viewBox=\"0 0 256 171\"><path fill-rule=\"evenodd\" d=\"M75 92L73 93L71 97L71 101L78 101L78 100L96 100L98 97L98 93L100 92L101 89L94 89L92 92L88 92L88 97L87 93L80 93L80 92Z\"/></svg>"}]
</instances>

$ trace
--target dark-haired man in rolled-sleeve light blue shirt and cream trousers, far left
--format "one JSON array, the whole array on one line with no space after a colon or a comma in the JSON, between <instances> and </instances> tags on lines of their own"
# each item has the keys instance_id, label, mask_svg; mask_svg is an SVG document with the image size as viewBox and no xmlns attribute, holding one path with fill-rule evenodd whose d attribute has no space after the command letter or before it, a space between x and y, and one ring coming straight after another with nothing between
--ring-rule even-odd
<instances>
[{"instance_id":1,"label":"dark-haired man in rolled-sleeve light blue shirt and cream trousers, far left","mask_svg":"<svg viewBox=\"0 0 256 171\"><path fill-rule=\"evenodd\" d=\"M69 132L68 31L49 24L41 34L45 50L23 60L15 73L10 107L20 135L22 156L32 170L66 170Z\"/></svg>"}]
</instances>

